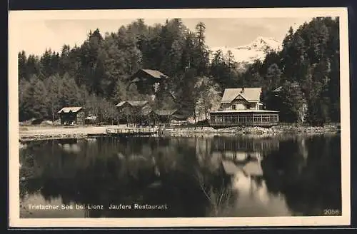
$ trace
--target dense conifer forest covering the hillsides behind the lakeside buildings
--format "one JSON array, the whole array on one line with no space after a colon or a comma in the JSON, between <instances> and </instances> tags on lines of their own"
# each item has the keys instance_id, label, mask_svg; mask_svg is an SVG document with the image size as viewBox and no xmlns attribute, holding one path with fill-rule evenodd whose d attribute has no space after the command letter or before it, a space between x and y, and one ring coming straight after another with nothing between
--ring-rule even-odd
<instances>
[{"instance_id":1,"label":"dense conifer forest covering the hillsides behind the lakeside buildings","mask_svg":"<svg viewBox=\"0 0 357 234\"><path fill-rule=\"evenodd\" d=\"M263 103L281 111L281 121L301 121L306 106L304 121L311 125L339 122L338 24L338 18L323 17L287 29L281 51L267 51L263 61L244 69L230 51L208 48L205 24L198 22L191 31L181 19L154 26L137 19L104 35L96 29L81 45L64 44L61 51L46 49L41 56L20 51L19 121L55 121L64 106L84 106L101 121L112 120L119 101L147 98L128 86L133 73L147 68L169 76L153 108L182 108L205 119L224 88L262 87ZM176 102L167 101L169 92Z\"/></svg>"}]
</instances>

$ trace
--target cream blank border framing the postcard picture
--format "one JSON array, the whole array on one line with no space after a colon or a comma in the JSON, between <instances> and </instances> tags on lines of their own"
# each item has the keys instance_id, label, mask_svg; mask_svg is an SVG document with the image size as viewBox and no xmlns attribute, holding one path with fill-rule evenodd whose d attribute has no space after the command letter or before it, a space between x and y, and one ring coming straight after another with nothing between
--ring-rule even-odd
<instances>
[{"instance_id":1,"label":"cream blank border framing the postcard picture","mask_svg":"<svg viewBox=\"0 0 357 234\"><path fill-rule=\"evenodd\" d=\"M93 12L96 11L96 14ZM120 14L118 14L120 11ZM74 14L74 12L76 14ZM238 12L238 14L237 14ZM114 14L113 14L114 13ZM145 17L142 17L142 14ZM136 14L141 17L134 17ZM19 218L19 97L17 53L21 20L340 17L342 215L243 218ZM222 17L222 15L224 17ZM9 225L10 227L239 227L350 225L350 89L347 8L65 10L9 12ZM342 140L343 139L343 140ZM140 222L139 222L140 221ZM79 225L81 223L81 225ZM138 225L140 223L140 225Z\"/></svg>"}]
</instances>

